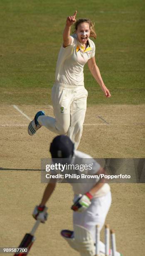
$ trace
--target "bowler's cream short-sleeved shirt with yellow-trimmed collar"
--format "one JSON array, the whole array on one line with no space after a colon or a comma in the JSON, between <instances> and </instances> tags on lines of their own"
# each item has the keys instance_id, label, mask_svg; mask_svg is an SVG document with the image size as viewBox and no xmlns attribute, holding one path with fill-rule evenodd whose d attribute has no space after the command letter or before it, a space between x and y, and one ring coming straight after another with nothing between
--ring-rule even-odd
<instances>
[{"instance_id":1,"label":"bowler's cream short-sleeved shirt with yellow-trimmed collar","mask_svg":"<svg viewBox=\"0 0 145 256\"><path fill-rule=\"evenodd\" d=\"M61 46L57 60L55 81L67 85L84 85L84 64L95 56L95 44L88 38L88 46L78 41L76 34L71 36L71 44Z\"/></svg>"}]
</instances>

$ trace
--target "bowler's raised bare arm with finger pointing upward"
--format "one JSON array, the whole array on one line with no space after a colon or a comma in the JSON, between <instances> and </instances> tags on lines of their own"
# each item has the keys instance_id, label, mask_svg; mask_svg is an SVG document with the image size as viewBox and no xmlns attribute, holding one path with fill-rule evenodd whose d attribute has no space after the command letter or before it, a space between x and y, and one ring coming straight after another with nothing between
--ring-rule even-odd
<instances>
[{"instance_id":1,"label":"bowler's raised bare arm with finger pointing upward","mask_svg":"<svg viewBox=\"0 0 145 256\"><path fill-rule=\"evenodd\" d=\"M69 16L66 19L66 26L63 32L64 47L69 46L71 44L71 25L73 25L76 22L76 13L77 11L75 11L73 16Z\"/></svg>"}]
</instances>

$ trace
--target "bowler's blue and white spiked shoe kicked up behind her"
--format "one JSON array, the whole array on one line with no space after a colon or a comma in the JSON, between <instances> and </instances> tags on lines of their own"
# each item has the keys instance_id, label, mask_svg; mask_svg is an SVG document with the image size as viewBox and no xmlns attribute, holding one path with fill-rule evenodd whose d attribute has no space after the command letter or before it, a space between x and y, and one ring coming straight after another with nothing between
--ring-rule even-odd
<instances>
[{"instance_id":1,"label":"bowler's blue and white spiked shoe kicked up behind her","mask_svg":"<svg viewBox=\"0 0 145 256\"><path fill-rule=\"evenodd\" d=\"M40 115L45 115L45 113L43 111L37 112L34 119L28 125L28 133L30 136L34 135L37 132L37 130L41 128L41 125L37 121Z\"/></svg>"}]
</instances>

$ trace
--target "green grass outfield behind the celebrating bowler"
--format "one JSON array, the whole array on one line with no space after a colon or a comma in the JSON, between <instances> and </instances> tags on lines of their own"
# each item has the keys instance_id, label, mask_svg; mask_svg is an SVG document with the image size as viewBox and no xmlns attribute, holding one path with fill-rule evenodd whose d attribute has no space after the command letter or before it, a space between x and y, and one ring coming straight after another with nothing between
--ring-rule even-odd
<instances>
[{"instance_id":1,"label":"green grass outfield behind the celebrating bowler","mask_svg":"<svg viewBox=\"0 0 145 256\"><path fill-rule=\"evenodd\" d=\"M62 31L68 15L96 24L96 63L106 99L86 66L89 104L142 104L145 99L143 0L0 0L0 102L50 104Z\"/></svg>"}]
</instances>

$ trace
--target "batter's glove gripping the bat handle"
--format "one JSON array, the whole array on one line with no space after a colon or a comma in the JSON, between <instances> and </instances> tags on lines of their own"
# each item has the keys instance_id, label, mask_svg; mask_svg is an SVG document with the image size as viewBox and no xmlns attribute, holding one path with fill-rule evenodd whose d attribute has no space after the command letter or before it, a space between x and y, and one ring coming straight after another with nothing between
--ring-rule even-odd
<instances>
[{"instance_id":1,"label":"batter's glove gripping the bat handle","mask_svg":"<svg viewBox=\"0 0 145 256\"><path fill-rule=\"evenodd\" d=\"M35 220L40 220L42 223L44 223L47 220L47 207L46 206L36 206L34 208L34 211L32 213Z\"/></svg>"}]
</instances>

